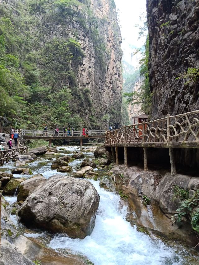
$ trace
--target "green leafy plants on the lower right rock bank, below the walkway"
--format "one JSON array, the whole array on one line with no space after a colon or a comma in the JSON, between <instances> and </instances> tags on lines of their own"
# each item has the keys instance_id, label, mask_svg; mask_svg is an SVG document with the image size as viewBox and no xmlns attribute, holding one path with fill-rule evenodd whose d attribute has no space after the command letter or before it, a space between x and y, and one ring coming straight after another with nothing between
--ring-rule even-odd
<instances>
[{"instance_id":1,"label":"green leafy plants on the lower right rock bank, below the walkway","mask_svg":"<svg viewBox=\"0 0 199 265\"><path fill-rule=\"evenodd\" d=\"M183 200L177 212L177 221L181 222L182 217L190 216L192 229L199 234L199 190L191 198Z\"/></svg>"}]
</instances>

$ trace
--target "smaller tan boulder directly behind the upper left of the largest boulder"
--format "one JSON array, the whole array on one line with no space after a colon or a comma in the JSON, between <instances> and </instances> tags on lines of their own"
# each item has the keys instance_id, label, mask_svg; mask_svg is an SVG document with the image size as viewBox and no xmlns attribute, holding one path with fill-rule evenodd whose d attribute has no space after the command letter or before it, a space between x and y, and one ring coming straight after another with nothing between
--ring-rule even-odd
<instances>
[{"instance_id":1,"label":"smaller tan boulder directly behind the upper left of the largest boulder","mask_svg":"<svg viewBox=\"0 0 199 265\"><path fill-rule=\"evenodd\" d=\"M17 195L17 201L25 201L25 199L32 194L36 188L43 185L46 181L44 177L34 177L25 180L19 184L19 193Z\"/></svg>"}]
</instances>

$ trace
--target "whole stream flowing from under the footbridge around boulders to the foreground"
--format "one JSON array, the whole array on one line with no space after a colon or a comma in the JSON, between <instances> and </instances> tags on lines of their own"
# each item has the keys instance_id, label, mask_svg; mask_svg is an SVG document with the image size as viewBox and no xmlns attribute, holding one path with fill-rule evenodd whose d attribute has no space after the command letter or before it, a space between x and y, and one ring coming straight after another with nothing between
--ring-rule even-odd
<instances>
[{"instance_id":1,"label":"whole stream flowing from under the footbridge around boulders to the foreground","mask_svg":"<svg viewBox=\"0 0 199 265\"><path fill-rule=\"evenodd\" d=\"M85 147L83 150L86 158L94 158L93 148ZM41 156L29 168L33 174L41 173L49 178L54 174L68 175L69 173L58 173L51 169L52 159L55 157L70 155L80 150L77 146L57 147L55 156ZM89 150L90 149L90 150ZM50 160L49 160L50 159ZM76 159L69 163L73 171L77 170L83 159ZM14 162L4 164L1 171L11 172L15 168ZM97 169L95 169L97 170ZM106 173L105 170L97 170L99 174ZM26 175L14 175L14 177L27 177ZM85 239L71 239L66 234L50 234L46 231L31 230L17 222L17 216L11 215L12 221L22 234L37 239L45 246L55 249L58 253L71 253L88 258L95 265L140 265L140 264L198 264L197 258L190 249L185 249L179 243L173 244L163 242L149 235L137 231L136 226L131 226L126 221L127 206L119 207L121 198L117 193L112 193L100 188L99 181L89 180L100 195L99 208L97 211L95 228L90 236ZM16 196L4 196L10 204L16 203ZM87 264L92 264L87 263ZM58 264L58 263L57 263ZM83 263L82 263L83 264ZM85 264L85 263L84 263Z\"/></svg>"}]
</instances>

